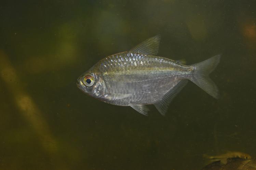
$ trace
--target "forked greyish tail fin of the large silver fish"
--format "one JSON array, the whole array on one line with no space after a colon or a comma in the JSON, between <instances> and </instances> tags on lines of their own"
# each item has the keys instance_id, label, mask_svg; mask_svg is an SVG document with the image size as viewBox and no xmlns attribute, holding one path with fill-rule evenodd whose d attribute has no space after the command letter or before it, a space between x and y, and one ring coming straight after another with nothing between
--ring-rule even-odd
<instances>
[{"instance_id":1,"label":"forked greyish tail fin of the large silver fish","mask_svg":"<svg viewBox=\"0 0 256 170\"><path fill-rule=\"evenodd\" d=\"M215 99L218 99L220 96L219 90L216 84L210 79L209 74L217 67L219 60L220 55L215 55L203 62L192 65L194 67L194 75L191 81Z\"/></svg>"}]
</instances>

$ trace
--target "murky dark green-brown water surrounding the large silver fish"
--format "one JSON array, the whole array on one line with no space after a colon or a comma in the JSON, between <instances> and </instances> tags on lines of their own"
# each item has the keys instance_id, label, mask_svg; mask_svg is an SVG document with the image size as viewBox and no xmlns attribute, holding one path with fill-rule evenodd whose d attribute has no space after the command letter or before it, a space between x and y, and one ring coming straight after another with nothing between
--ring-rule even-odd
<instances>
[{"instance_id":1,"label":"murky dark green-brown water surrounding the large silver fish","mask_svg":"<svg viewBox=\"0 0 256 170\"><path fill-rule=\"evenodd\" d=\"M10 1L0 4L0 169L200 169L203 154L256 157L253 0ZM105 56L162 35L159 56L222 54L215 100L188 83L166 117L84 95Z\"/></svg>"}]
</instances>

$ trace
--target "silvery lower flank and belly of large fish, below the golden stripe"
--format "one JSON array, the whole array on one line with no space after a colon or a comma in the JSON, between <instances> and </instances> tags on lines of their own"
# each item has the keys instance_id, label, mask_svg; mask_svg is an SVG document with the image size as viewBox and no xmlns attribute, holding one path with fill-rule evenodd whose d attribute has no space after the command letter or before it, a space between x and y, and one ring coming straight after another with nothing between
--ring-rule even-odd
<instances>
[{"instance_id":1,"label":"silvery lower flank and belly of large fish, below the golden stripe","mask_svg":"<svg viewBox=\"0 0 256 170\"><path fill-rule=\"evenodd\" d=\"M179 72L180 73L180 72ZM158 73L124 74L116 77L105 76L105 102L115 105L153 104L172 89L188 74L176 75L175 71Z\"/></svg>"}]
</instances>

